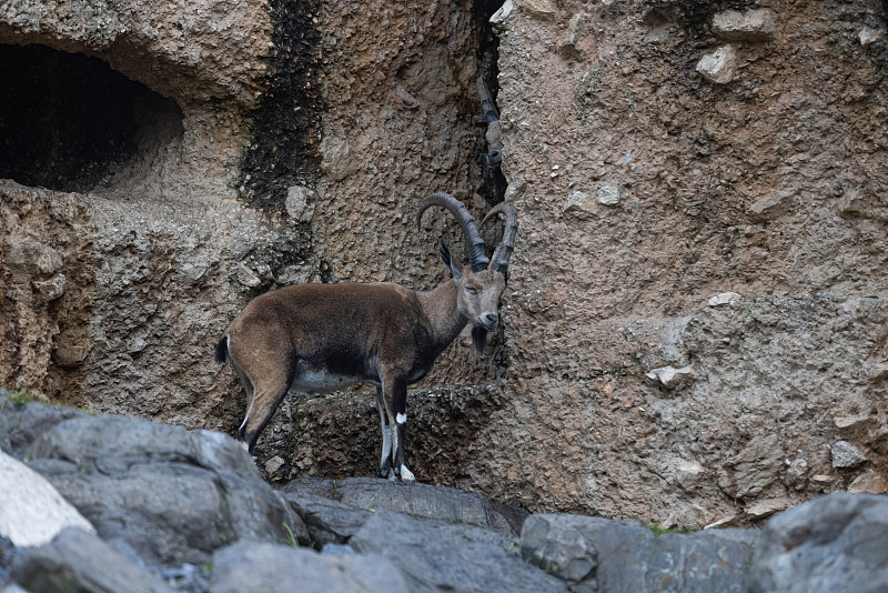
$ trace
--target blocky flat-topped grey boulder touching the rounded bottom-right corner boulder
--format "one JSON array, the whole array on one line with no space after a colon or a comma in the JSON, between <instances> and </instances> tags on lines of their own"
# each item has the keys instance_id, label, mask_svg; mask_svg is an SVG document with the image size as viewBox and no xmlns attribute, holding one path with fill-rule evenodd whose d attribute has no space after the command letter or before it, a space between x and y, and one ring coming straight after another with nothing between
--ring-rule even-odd
<instances>
[{"instance_id":1,"label":"blocky flat-topped grey boulder touching the rounded bottom-right corner boulder","mask_svg":"<svg viewBox=\"0 0 888 593\"><path fill-rule=\"evenodd\" d=\"M532 515L522 556L574 591L745 593L755 533L709 530L655 534L630 521L569 514Z\"/></svg>"}]
</instances>

